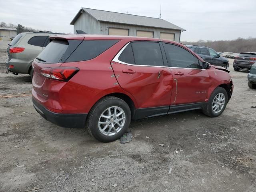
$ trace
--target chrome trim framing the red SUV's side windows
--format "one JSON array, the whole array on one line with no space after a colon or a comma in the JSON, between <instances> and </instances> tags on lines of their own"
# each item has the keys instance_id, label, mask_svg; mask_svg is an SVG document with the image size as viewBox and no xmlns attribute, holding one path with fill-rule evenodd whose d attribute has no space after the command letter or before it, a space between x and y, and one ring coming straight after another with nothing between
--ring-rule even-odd
<instances>
[{"instance_id":1,"label":"chrome trim framing the red SUV's side windows","mask_svg":"<svg viewBox=\"0 0 256 192\"><path fill-rule=\"evenodd\" d=\"M131 41L131 42L128 42L124 45L124 47L116 54L116 56L113 58L113 62L117 62L117 63L120 63L120 64L124 64L124 65L130 65L130 66L142 66L142 67L163 67L163 68L174 68L174 69L194 69L194 70L207 70L207 69L201 69L201 68L182 68L182 67L170 67L170 66L154 66L154 65L136 65L136 64L129 64L129 63L126 63L126 62L122 62L120 60L118 60L120 54L124 51L124 49L126 48L126 46L128 46L128 44L132 43L132 42L158 42L158 43L161 43L162 41ZM162 43L167 43L167 44L172 44L172 43L169 43L169 42L162 42ZM178 46L178 45L177 45ZM181 47L181 46L179 46ZM161 48L161 46L160 46ZM182 47L181 47L182 48ZM165 50L164 50L165 51ZM162 52L162 50L161 50ZM162 53L163 54L163 53ZM164 55L166 56L165 52L164 52ZM163 56L164 57L164 56ZM163 58L164 59L164 58ZM198 59L198 58L197 58ZM210 63L207 62L209 65ZM199 64L199 59L198 59L198 64Z\"/></svg>"}]
</instances>

